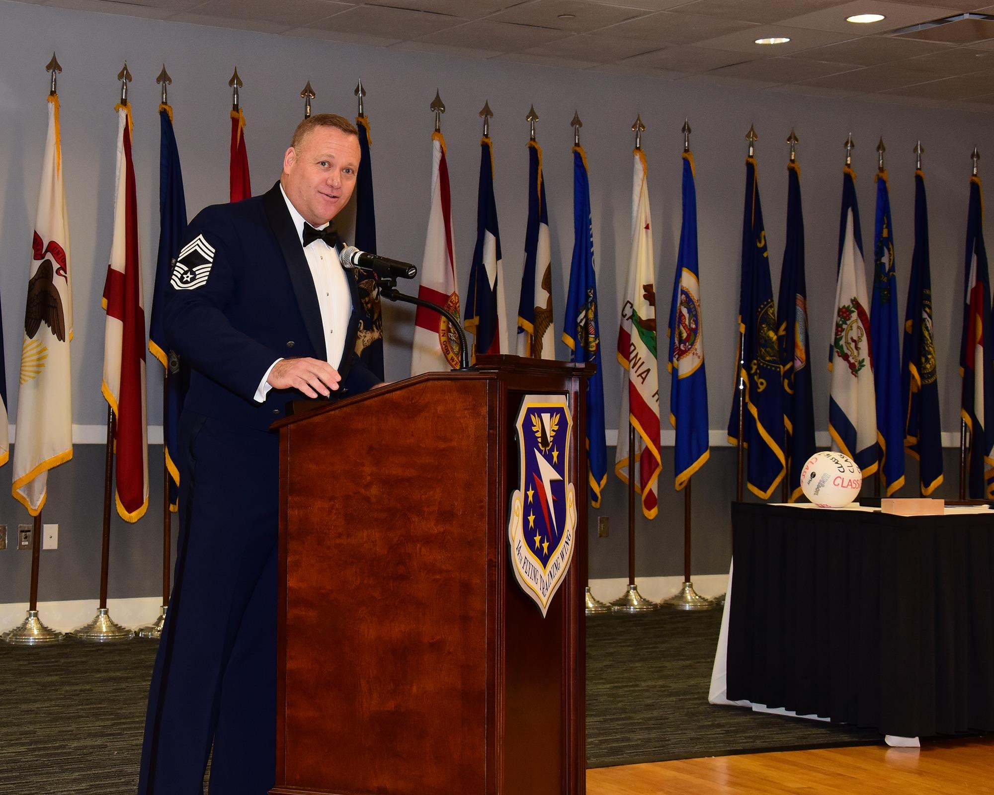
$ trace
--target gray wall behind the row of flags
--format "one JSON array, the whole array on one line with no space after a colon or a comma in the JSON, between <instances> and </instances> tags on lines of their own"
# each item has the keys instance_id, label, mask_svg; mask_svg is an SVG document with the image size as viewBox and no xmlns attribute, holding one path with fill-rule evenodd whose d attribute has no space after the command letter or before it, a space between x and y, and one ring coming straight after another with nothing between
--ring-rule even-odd
<instances>
[{"instance_id":1,"label":"gray wall behind the row of flags","mask_svg":"<svg viewBox=\"0 0 994 795\"><path fill-rule=\"evenodd\" d=\"M527 123L535 104L542 120L553 261L558 268L555 300L561 324L573 247L572 131L575 109L583 119L582 142L590 164L591 202L601 306L604 384L608 427L616 427L620 368L610 355L617 307L628 259L631 213L629 126L641 113L647 131L649 185L656 230L657 283L666 294L672 283L680 228L680 127L689 116L697 161L702 292L706 351L711 379L711 427L723 428L731 401L736 345L738 263L744 185L745 130L754 123L760 184L774 289L783 245L786 202L786 146L791 127L801 139L799 158L807 234L807 277L815 364L827 350L834 294L835 256L841 189L842 142L852 131L855 168L867 244L872 235L876 169L874 148L883 135L891 166L892 202L898 253L899 288L904 301L911 257L911 147L920 137L931 210L935 342L943 428L957 428L958 285L961 280L969 152L991 151L986 117L942 108L915 108L879 101L800 96L752 90L705 79L672 81L610 71L559 70L508 61L483 62L399 49L376 49L298 40L217 28L123 16L66 11L0 0L0 269L4 296L9 410L16 417L23 296L27 256L38 196L45 137L46 77L49 54L57 51L65 68L60 78L63 151L75 270L76 338L73 346L74 421L99 425L105 405L99 394L103 313L99 310L110 244L113 202L115 119L114 76L127 60L135 81L134 159L141 210L141 253L146 307L158 239L158 89L162 63L174 79L170 99L183 161L191 215L228 196L228 79L238 65L246 81L243 105L252 185L260 193L278 176L278 166L294 122L301 114L298 92L306 80L318 97L315 111L351 115L352 89L362 77L369 90L372 120L379 242L383 252L417 262L421 256L430 177L431 114L427 105L437 86L448 107L443 131L448 144L460 284L468 280L475 235L476 178L480 119L488 99L496 116L496 193L500 212L508 304L517 306L527 215ZM983 163L985 161L981 161ZM665 307L660 314L665 314ZM387 376L403 378L410 368L413 314L385 308L388 329ZM566 349L559 346L565 357ZM161 422L158 366L149 359L148 417ZM818 428L827 427L827 378L814 368ZM668 383L661 385L663 404ZM115 530L111 593L152 595L159 571L160 449L150 450L152 509L134 527ZM612 451L609 451L612 452ZM639 541L640 571L676 573L681 552L682 497L671 493L671 451L664 456L662 517ZM734 489L734 455L715 450L695 479L698 532L695 570L717 572L728 564L727 500ZM98 560L102 450L78 445L76 459L51 480L46 521L65 517L60 549L43 556L41 596L82 598L95 593ZM911 463L911 462L910 462ZM7 470L9 473L9 469ZM953 474L947 467L947 473ZM609 478L604 506L612 518L607 540L591 538L591 575L624 572L626 511L620 484ZM911 490L909 490L911 491ZM0 492L2 493L2 492ZM673 519L669 519L673 509ZM0 523L27 521L23 509L0 497ZM698 513L700 512L700 513ZM594 512L595 514L596 512ZM85 519L83 519L85 517ZM62 524L62 523L61 523ZM648 523L646 523L648 524ZM116 526L115 526L116 527ZM595 534L594 534L595 535ZM0 601L25 597L24 553L0 552Z\"/></svg>"}]
</instances>

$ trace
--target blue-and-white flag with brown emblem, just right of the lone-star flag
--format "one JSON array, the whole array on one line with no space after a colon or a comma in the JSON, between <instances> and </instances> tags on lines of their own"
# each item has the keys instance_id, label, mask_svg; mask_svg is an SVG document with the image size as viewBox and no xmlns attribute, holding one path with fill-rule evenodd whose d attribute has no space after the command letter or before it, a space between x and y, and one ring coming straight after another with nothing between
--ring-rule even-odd
<instances>
[{"instance_id":1,"label":"blue-and-white flag with brown emblem, just right of the lone-star flag","mask_svg":"<svg viewBox=\"0 0 994 795\"><path fill-rule=\"evenodd\" d=\"M542 172L542 147L528 142L528 225L525 272L518 302L518 356L556 358L553 320L553 263L549 244L549 210Z\"/></svg>"}]
</instances>

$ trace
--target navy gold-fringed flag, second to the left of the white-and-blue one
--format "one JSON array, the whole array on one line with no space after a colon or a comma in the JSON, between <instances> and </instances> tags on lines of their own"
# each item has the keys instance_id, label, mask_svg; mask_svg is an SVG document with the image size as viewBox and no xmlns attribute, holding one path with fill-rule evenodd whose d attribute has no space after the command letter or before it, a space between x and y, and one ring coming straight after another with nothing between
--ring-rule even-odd
<instances>
[{"instance_id":1,"label":"navy gold-fringed flag, second to the left of the white-and-blue one","mask_svg":"<svg viewBox=\"0 0 994 795\"><path fill-rule=\"evenodd\" d=\"M783 381L769 252L759 204L755 159L745 159L742 290L739 298L740 378L745 382L746 485L765 500L783 480ZM729 441L739 442L739 382L732 399Z\"/></svg>"}]
</instances>

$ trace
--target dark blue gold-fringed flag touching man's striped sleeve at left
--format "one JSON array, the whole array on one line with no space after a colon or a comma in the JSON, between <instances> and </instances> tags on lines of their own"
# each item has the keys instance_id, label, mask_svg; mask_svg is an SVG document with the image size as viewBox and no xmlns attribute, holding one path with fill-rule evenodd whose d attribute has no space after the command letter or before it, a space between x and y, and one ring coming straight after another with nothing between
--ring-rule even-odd
<instances>
[{"instance_id":1,"label":"dark blue gold-fringed flag touching man's striped sleeve at left","mask_svg":"<svg viewBox=\"0 0 994 795\"><path fill-rule=\"evenodd\" d=\"M162 314L169 293L172 262L179 254L186 237L186 197L183 192L183 172L180 153L173 132L173 109L159 105L159 255L155 264L155 290L152 293L152 316L148 325L148 350L163 367L165 397L162 406L162 436L165 447L166 471L169 473L169 505L177 510L180 471L176 464L179 449L180 411L190 386L190 368L175 351L169 349L163 328Z\"/></svg>"}]
</instances>

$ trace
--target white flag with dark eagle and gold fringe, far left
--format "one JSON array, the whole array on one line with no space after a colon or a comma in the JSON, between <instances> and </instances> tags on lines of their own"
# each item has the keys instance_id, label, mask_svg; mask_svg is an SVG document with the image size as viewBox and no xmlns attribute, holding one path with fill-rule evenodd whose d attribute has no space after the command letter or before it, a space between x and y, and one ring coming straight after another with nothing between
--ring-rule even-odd
<instances>
[{"instance_id":1,"label":"white flag with dark eagle and gold fringe, far left","mask_svg":"<svg viewBox=\"0 0 994 795\"><path fill-rule=\"evenodd\" d=\"M49 470L73 457L73 271L63 188L59 95L49 95L49 131L28 266L21 342L21 387L14 446L14 498L38 516L48 497Z\"/></svg>"}]
</instances>

